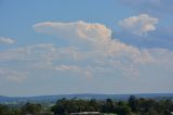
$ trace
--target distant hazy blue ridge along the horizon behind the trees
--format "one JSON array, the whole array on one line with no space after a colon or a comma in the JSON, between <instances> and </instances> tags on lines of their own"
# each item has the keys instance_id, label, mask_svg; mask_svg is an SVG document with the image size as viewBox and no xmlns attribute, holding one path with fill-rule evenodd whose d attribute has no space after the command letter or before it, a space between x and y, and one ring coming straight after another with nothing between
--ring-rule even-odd
<instances>
[{"instance_id":1,"label":"distant hazy blue ridge along the horizon behind the trees","mask_svg":"<svg viewBox=\"0 0 173 115\"><path fill-rule=\"evenodd\" d=\"M66 99L116 99L116 100L128 100L130 95L138 98L152 98L157 100L170 99L173 100L173 93L139 93L139 94L94 94L94 93L82 93L82 94L57 94L57 95L38 95L38 97L4 97L0 95L0 103L8 102L56 102L62 98Z\"/></svg>"}]
</instances>

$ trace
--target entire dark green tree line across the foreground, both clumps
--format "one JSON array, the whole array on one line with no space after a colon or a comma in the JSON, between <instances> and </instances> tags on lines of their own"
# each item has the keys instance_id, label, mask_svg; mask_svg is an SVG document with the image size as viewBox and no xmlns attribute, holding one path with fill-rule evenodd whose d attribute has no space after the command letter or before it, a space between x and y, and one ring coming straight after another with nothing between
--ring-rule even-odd
<instances>
[{"instance_id":1,"label":"entire dark green tree line across the foreground, both clumps","mask_svg":"<svg viewBox=\"0 0 173 115\"><path fill-rule=\"evenodd\" d=\"M101 112L117 115L172 115L172 100L154 100L136 98L131 95L128 101L107 100L82 100L82 99L61 99L46 110L55 115L69 115L78 112ZM0 104L0 115L40 115L43 110L41 104L26 103L21 107L10 107Z\"/></svg>"}]
</instances>

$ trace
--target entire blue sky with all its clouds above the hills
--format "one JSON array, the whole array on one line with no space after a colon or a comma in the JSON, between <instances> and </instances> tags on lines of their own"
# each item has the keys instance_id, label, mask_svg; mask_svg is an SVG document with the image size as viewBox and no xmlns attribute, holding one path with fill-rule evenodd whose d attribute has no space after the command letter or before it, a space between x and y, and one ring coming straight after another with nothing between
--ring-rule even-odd
<instances>
[{"instance_id":1,"label":"entire blue sky with all its clouds above the hills","mask_svg":"<svg viewBox=\"0 0 173 115\"><path fill-rule=\"evenodd\" d=\"M172 93L172 0L0 0L0 95Z\"/></svg>"}]
</instances>

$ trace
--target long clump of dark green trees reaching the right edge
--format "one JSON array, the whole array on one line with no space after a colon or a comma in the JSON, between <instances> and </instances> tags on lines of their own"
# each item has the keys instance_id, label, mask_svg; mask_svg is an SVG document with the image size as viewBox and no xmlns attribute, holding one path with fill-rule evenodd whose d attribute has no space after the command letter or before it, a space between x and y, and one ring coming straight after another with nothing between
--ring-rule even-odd
<instances>
[{"instance_id":1,"label":"long clump of dark green trees reaching the right edge","mask_svg":"<svg viewBox=\"0 0 173 115\"><path fill-rule=\"evenodd\" d=\"M106 101L62 99L51 110L58 115L69 115L75 112L101 112L118 115L171 115L173 102L171 100L156 101L154 99L137 99L132 95L129 101Z\"/></svg>"}]
</instances>

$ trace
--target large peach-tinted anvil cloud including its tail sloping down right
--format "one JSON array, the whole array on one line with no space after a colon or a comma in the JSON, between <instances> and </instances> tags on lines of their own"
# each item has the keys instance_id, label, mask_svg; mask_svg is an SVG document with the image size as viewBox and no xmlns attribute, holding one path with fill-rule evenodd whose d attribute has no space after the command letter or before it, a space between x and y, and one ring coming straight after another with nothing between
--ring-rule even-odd
<instances>
[{"instance_id":1,"label":"large peach-tinted anvil cloud including its tail sloping down right","mask_svg":"<svg viewBox=\"0 0 173 115\"><path fill-rule=\"evenodd\" d=\"M139 54L138 49L128 46L118 40L112 40L111 29L103 24L91 24L85 22L74 23L38 23L34 25L36 31L62 36L65 39L75 40L75 47L79 48L80 43L91 47L90 50L94 53L99 53L105 56L118 55L122 53ZM88 42L89 41L89 42ZM92 46L91 46L92 44ZM91 53L91 52L90 52Z\"/></svg>"}]
</instances>

